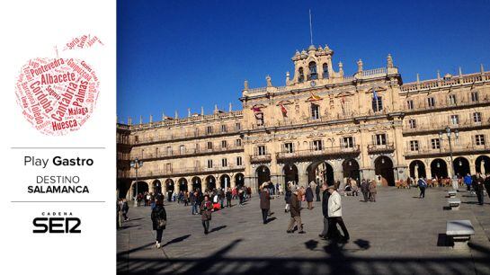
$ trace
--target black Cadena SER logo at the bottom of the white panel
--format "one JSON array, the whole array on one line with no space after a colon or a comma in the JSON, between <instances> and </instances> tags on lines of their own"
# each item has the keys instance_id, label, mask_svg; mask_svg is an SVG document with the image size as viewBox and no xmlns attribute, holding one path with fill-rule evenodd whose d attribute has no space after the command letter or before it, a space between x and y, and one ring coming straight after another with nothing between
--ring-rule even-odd
<instances>
[{"instance_id":1,"label":"black Cadena SER logo at the bottom of the white panel","mask_svg":"<svg viewBox=\"0 0 490 275\"><path fill-rule=\"evenodd\" d=\"M32 219L35 234L80 234L82 220L71 212L42 212Z\"/></svg>"}]
</instances>

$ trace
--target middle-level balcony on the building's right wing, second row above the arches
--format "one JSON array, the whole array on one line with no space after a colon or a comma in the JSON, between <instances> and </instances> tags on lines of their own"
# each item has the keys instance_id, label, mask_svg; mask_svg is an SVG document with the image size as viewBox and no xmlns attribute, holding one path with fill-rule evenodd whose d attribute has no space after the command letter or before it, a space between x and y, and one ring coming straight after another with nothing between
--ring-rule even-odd
<instances>
[{"instance_id":1,"label":"middle-level balcony on the building's right wing, second row above the arches","mask_svg":"<svg viewBox=\"0 0 490 275\"><path fill-rule=\"evenodd\" d=\"M437 134L439 132L444 132L446 127L458 130L473 130L488 128L488 126L490 126L490 119L482 120L480 122L475 122L474 120L460 120L458 124L424 122L417 123L414 129L404 126L403 135L415 136L422 134Z\"/></svg>"}]
</instances>

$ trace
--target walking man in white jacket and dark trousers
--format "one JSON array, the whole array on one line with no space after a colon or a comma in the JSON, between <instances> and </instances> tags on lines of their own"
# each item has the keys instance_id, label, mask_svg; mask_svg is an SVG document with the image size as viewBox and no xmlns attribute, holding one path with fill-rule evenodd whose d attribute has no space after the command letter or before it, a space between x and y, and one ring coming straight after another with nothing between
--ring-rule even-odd
<instances>
[{"instance_id":1,"label":"walking man in white jacket and dark trousers","mask_svg":"<svg viewBox=\"0 0 490 275\"><path fill-rule=\"evenodd\" d=\"M330 198L328 198L328 235L327 238L331 239L334 233L338 230L337 225L342 229L343 241L347 242L351 238L347 227L343 223L342 218L342 198L340 194L335 190L334 186L328 187Z\"/></svg>"}]
</instances>

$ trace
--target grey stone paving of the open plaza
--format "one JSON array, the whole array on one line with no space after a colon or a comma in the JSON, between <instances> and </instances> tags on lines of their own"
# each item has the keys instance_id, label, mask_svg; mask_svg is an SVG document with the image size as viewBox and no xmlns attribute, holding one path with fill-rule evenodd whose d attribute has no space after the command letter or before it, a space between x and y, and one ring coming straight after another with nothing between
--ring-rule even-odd
<instances>
[{"instance_id":1,"label":"grey stone paving of the open plaza","mask_svg":"<svg viewBox=\"0 0 490 275\"><path fill-rule=\"evenodd\" d=\"M209 235L191 207L166 202L162 249L155 247L150 208L130 208L131 220L117 231L118 274L490 274L490 200L477 205L461 190L460 210L447 210L446 191L428 189L423 200L417 189L395 188L380 188L377 202L343 197L348 244L318 237L323 221L316 201L301 211L304 235L286 234L290 214L282 196L272 200L268 224L255 195L244 207L213 213ZM469 219L475 227L468 248L447 244L449 219Z\"/></svg>"}]
</instances>

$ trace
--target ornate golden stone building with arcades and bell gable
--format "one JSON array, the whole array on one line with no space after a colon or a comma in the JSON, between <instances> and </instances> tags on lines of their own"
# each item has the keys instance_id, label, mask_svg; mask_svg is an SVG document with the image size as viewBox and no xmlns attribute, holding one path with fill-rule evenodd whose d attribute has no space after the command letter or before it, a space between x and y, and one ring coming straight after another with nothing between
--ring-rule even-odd
<instances>
[{"instance_id":1,"label":"ornate golden stone building with arcades and bell gable","mask_svg":"<svg viewBox=\"0 0 490 275\"><path fill-rule=\"evenodd\" d=\"M483 66L404 84L390 55L386 67L369 70L359 60L354 75L344 75L333 55L327 46L297 51L284 86L270 76L261 88L245 81L243 111L118 124L120 197L135 194L135 157L144 162L138 192L243 184L257 191L269 180L349 177L395 185L409 176L490 172L490 72Z\"/></svg>"}]
</instances>

